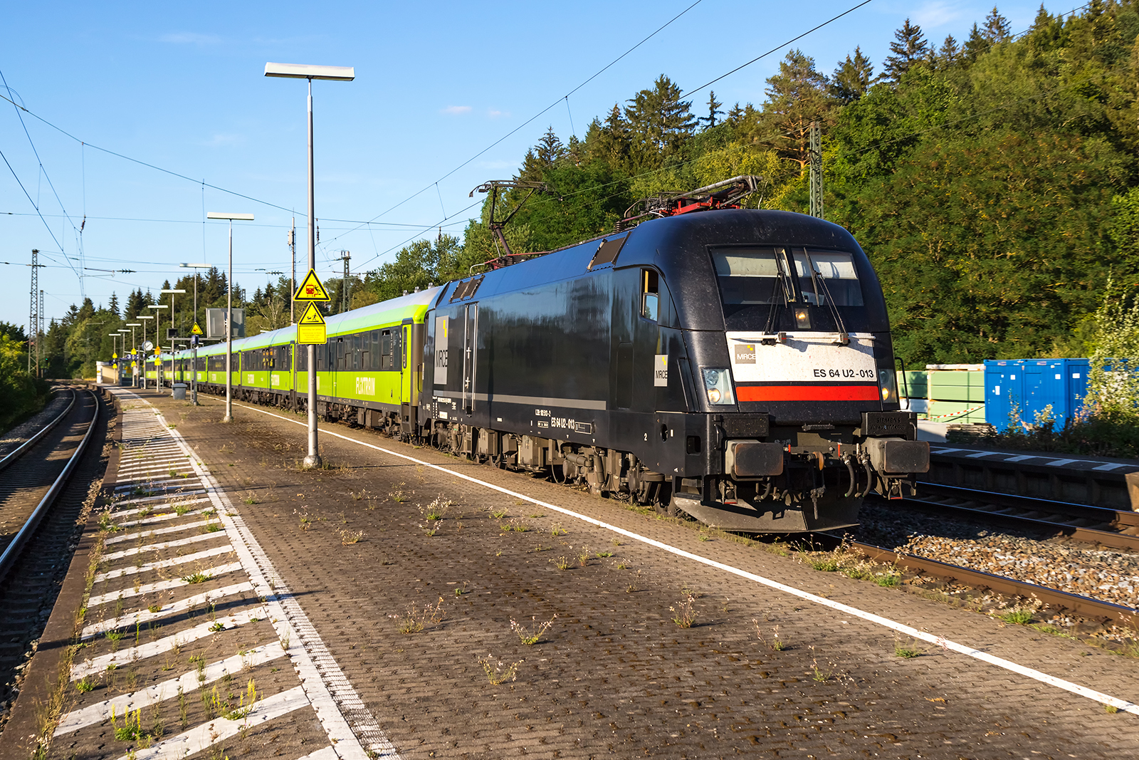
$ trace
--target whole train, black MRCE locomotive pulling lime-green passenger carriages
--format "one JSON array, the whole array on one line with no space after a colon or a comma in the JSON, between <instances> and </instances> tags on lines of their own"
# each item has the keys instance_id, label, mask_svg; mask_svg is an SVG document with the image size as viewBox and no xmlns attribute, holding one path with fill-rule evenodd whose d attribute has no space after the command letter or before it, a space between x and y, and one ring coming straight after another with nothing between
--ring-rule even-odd
<instances>
[{"instance_id":1,"label":"whole train, black MRCE locomotive pulling lime-green passenger carriages","mask_svg":"<svg viewBox=\"0 0 1139 760\"><path fill-rule=\"evenodd\" d=\"M928 468L877 276L812 216L656 219L327 322L326 419L726 530L852 525ZM303 409L295 341L233 341L236 398ZM178 352L174 379L223 393L224 362L224 344L197 367Z\"/></svg>"}]
</instances>

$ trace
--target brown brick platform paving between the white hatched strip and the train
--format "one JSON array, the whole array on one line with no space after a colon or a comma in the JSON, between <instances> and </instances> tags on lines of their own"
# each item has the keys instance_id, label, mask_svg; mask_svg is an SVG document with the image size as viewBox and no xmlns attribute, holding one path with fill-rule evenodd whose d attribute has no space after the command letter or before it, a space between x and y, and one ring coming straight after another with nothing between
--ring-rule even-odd
<instances>
[{"instance_id":1,"label":"brown brick platform paving between the white hatched strip and the train","mask_svg":"<svg viewBox=\"0 0 1139 760\"><path fill-rule=\"evenodd\" d=\"M1134 659L370 431L327 426L344 438L322 435L326 467L303 471L302 417L235 404L223 425L216 399L141 395L227 491L401 757L1139 754L1139 716L933 645L900 657L911 641L885 627L460 474L1132 702ZM547 621L533 645L511 629Z\"/></svg>"}]
</instances>

